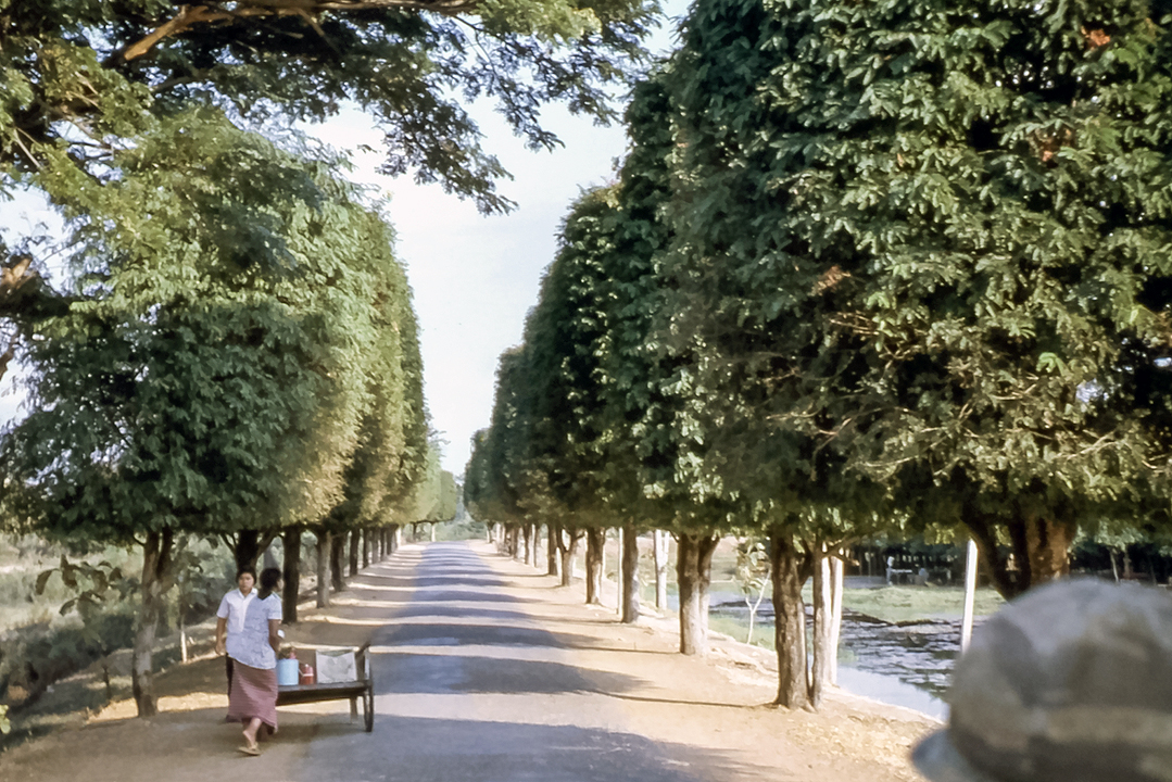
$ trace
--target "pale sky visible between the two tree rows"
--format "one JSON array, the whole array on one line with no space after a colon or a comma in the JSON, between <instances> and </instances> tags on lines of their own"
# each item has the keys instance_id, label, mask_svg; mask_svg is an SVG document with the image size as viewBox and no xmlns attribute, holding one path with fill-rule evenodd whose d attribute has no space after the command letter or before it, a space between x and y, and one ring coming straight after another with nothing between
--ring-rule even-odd
<instances>
[{"instance_id":1,"label":"pale sky visible between the two tree rows","mask_svg":"<svg viewBox=\"0 0 1172 782\"><path fill-rule=\"evenodd\" d=\"M677 16L686 4L665 5L669 15ZM674 27L667 22L649 47L665 52ZM464 471L472 434L489 424L497 358L520 342L541 273L557 252L561 219L584 189L613 182L615 163L626 150L621 125L599 128L559 106L543 113L543 124L564 143L552 152L525 149L489 103L476 104L470 113L485 136L484 148L513 175L499 184L502 195L517 203L509 215L485 217L438 185L417 185L410 175L393 179L376 174L382 137L357 110L306 128L328 144L350 150L355 170L349 178L391 199L388 213L397 237L396 256L415 292L431 426L444 441L443 467L456 476ZM374 151L362 151L363 144ZM19 236L38 223L50 230L60 225L36 198L0 202L0 229ZM15 380L9 372L0 381L0 427L21 414Z\"/></svg>"}]
</instances>

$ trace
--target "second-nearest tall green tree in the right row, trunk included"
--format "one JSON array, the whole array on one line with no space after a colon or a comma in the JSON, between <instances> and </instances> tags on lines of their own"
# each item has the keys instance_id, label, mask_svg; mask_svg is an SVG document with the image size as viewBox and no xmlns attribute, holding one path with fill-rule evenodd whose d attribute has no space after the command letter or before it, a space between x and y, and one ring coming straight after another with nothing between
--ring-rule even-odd
<instances>
[{"instance_id":1,"label":"second-nearest tall green tree in the right row, trunk included","mask_svg":"<svg viewBox=\"0 0 1172 782\"><path fill-rule=\"evenodd\" d=\"M764 134L820 117L771 114L762 98L788 53L781 23L761 4L695 6L643 122L648 140L657 134L650 164L663 170L652 276L660 292L649 327L672 356L672 380L662 385L675 400L680 443L672 480L690 508L710 508L715 529L769 537L778 702L796 708L818 705L836 655L822 563L885 523L890 503L883 485L827 447L836 416L858 403L852 382L866 354L820 328L833 306L819 295L827 286L803 277L806 245L783 251L775 236L775 222L805 216L785 212L777 193L783 162ZM809 32L800 15L785 15L785 23L797 35L786 41ZM802 599L811 576L812 675Z\"/></svg>"}]
</instances>

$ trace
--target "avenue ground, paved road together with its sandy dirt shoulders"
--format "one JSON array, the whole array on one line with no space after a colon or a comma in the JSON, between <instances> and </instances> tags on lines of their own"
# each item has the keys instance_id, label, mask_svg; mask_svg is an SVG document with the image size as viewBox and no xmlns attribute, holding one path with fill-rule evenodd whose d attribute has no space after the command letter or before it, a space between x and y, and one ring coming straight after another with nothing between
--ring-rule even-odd
<instances>
[{"instance_id":1,"label":"avenue ground, paved road together with its sandy dirt shoulders","mask_svg":"<svg viewBox=\"0 0 1172 782\"><path fill-rule=\"evenodd\" d=\"M762 707L768 675L675 654L670 633L646 620L614 624L613 608L581 605L580 591L484 544L406 545L291 632L298 646L372 642L373 734L349 721L346 702L291 707L264 755L241 760L238 728L220 722L223 667L204 659L175 672L178 681L159 678L151 720L103 715L6 753L0 776L885 781L907 778L898 759L932 727L841 698L818 714ZM831 756L825 741L841 741L844 729L868 737ZM875 742L887 747L877 752Z\"/></svg>"}]
</instances>

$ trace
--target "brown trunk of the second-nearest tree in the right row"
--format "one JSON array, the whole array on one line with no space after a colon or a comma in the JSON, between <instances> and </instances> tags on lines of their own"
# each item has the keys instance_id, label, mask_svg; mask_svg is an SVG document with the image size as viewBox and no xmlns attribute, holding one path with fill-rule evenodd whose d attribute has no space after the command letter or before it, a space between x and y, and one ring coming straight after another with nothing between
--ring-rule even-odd
<instances>
[{"instance_id":1,"label":"brown trunk of the second-nearest tree in the right row","mask_svg":"<svg viewBox=\"0 0 1172 782\"><path fill-rule=\"evenodd\" d=\"M806 708L805 605L802 585L806 558L782 525L769 530L769 560L774 582L774 642L777 646L777 701L785 708Z\"/></svg>"}]
</instances>

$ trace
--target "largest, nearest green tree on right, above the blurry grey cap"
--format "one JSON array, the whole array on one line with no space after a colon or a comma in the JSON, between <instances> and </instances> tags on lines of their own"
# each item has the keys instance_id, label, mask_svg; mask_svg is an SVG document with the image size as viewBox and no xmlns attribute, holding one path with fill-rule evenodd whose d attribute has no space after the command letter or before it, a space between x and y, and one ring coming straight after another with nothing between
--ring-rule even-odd
<instances>
[{"instance_id":1,"label":"largest, nearest green tree on right, above the blurry grey cap","mask_svg":"<svg viewBox=\"0 0 1172 782\"><path fill-rule=\"evenodd\" d=\"M755 202L730 230L768 226L740 265L789 297L748 306L817 351L790 420L825 410L826 448L963 521L1002 593L1067 572L1103 503L1166 496L1168 9L770 19L725 192Z\"/></svg>"}]
</instances>

